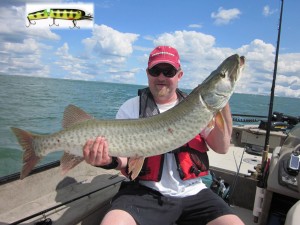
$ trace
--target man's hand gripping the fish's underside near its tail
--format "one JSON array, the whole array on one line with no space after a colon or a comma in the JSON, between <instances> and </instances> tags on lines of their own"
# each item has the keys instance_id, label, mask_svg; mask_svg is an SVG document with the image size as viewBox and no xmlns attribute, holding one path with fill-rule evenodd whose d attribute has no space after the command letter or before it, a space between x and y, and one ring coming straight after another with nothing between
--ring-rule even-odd
<instances>
[{"instance_id":1,"label":"man's hand gripping the fish's underside near its tail","mask_svg":"<svg viewBox=\"0 0 300 225\"><path fill-rule=\"evenodd\" d=\"M83 147L84 160L93 166L105 166L112 162L108 155L108 143L104 137L88 140Z\"/></svg>"}]
</instances>

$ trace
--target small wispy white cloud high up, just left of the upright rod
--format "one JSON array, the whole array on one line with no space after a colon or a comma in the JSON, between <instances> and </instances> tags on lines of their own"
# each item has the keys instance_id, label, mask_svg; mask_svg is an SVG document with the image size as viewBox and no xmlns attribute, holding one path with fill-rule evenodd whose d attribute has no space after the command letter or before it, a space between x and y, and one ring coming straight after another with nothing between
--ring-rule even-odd
<instances>
[{"instance_id":1,"label":"small wispy white cloud high up, just left of the upright rod","mask_svg":"<svg viewBox=\"0 0 300 225\"><path fill-rule=\"evenodd\" d=\"M211 18L215 20L216 25L224 25L230 23L230 21L239 18L241 11L237 8L223 9L220 7L218 12L212 12Z\"/></svg>"}]
</instances>

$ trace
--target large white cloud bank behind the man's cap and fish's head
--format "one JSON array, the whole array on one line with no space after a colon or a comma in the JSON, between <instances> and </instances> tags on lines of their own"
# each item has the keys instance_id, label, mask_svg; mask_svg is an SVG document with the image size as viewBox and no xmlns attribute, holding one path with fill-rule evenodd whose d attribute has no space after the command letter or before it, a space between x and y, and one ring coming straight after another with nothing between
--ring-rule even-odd
<instances>
[{"instance_id":1,"label":"large white cloud bank behind the man's cap and fish's head","mask_svg":"<svg viewBox=\"0 0 300 225\"><path fill-rule=\"evenodd\" d=\"M154 45L177 48L184 71L180 86L194 88L231 54L246 57L246 68L236 92L268 95L273 79L275 47L255 39L237 49L215 46L215 38L195 31L164 33L153 41ZM145 55L145 61L147 55ZM300 96L300 54L280 54L276 95ZM292 91L291 91L292 90Z\"/></svg>"}]
</instances>

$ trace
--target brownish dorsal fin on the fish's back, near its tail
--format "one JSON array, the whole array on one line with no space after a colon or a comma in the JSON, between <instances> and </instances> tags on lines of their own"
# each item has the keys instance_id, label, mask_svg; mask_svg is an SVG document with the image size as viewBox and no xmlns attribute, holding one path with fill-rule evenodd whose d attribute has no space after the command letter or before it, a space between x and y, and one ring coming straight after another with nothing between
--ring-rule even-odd
<instances>
[{"instance_id":1,"label":"brownish dorsal fin on the fish's back, near its tail","mask_svg":"<svg viewBox=\"0 0 300 225\"><path fill-rule=\"evenodd\" d=\"M64 111L64 118L62 122L63 128L71 127L77 123L93 119L93 117L87 114L82 109L75 105L68 105Z\"/></svg>"}]
</instances>

